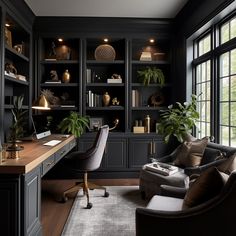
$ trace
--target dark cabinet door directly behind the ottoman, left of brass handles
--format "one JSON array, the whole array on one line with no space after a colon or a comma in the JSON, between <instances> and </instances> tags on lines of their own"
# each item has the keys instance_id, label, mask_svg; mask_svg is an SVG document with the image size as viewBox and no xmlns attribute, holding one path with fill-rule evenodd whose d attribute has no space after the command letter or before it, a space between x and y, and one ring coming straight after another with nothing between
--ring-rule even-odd
<instances>
[{"instance_id":1,"label":"dark cabinet door directly behind the ottoman, left of brass handles","mask_svg":"<svg viewBox=\"0 0 236 236\"><path fill-rule=\"evenodd\" d=\"M150 161L152 139L132 138L129 140L129 168L140 169Z\"/></svg>"}]
</instances>

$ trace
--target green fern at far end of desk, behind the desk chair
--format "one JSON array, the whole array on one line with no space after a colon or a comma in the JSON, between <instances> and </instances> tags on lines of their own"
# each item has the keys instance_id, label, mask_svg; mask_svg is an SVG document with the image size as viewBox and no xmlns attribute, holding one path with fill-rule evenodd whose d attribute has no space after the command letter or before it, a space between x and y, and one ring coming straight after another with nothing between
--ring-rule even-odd
<instances>
[{"instance_id":1,"label":"green fern at far end of desk, behind the desk chair","mask_svg":"<svg viewBox=\"0 0 236 236\"><path fill-rule=\"evenodd\" d=\"M85 128L89 127L88 124L88 117L82 116L78 112L71 111L70 114L60 122L58 128L62 133L71 133L78 138L83 134Z\"/></svg>"}]
</instances>

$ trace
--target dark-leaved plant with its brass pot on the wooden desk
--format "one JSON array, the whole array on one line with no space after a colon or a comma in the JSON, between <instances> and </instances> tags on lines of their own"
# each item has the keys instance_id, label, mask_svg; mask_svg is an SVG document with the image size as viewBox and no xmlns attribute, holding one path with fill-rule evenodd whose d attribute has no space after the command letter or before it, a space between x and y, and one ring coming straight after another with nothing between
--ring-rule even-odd
<instances>
[{"instance_id":1,"label":"dark-leaved plant with its brass pot on the wooden desk","mask_svg":"<svg viewBox=\"0 0 236 236\"><path fill-rule=\"evenodd\" d=\"M22 95L13 97L13 108L11 109L13 120L8 138L8 142L11 144L7 148L9 158L18 158L18 151L23 149L23 146L18 145L24 134L24 115L27 112L27 110L22 109L23 100L24 96Z\"/></svg>"}]
</instances>

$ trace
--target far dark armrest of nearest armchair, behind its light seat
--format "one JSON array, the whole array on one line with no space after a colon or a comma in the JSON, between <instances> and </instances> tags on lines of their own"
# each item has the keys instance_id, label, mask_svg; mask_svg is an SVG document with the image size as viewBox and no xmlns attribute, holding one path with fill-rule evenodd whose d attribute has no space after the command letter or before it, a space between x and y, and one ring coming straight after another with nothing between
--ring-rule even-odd
<instances>
[{"instance_id":1,"label":"far dark armrest of nearest armchair, behind its light seat","mask_svg":"<svg viewBox=\"0 0 236 236\"><path fill-rule=\"evenodd\" d=\"M174 187L170 185L162 184L160 186L160 195L176 198L184 198L187 189L182 187Z\"/></svg>"}]
</instances>

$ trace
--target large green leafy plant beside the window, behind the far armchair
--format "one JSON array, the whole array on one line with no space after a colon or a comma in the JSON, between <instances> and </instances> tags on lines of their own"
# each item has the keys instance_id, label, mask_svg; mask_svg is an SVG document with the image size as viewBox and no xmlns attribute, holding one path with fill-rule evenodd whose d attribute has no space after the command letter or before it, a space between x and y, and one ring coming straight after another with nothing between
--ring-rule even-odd
<instances>
[{"instance_id":1,"label":"large green leafy plant beside the window, behind the far armchair","mask_svg":"<svg viewBox=\"0 0 236 236\"><path fill-rule=\"evenodd\" d=\"M171 136L176 137L182 143L186 135L191 133L199 119L196 105L197 96L192 94L189 103L176 102L175 105L170 105L167 110L162 111L158 131L164 135L165 143L169 142Z\"/></svg>"}]
</instances>

